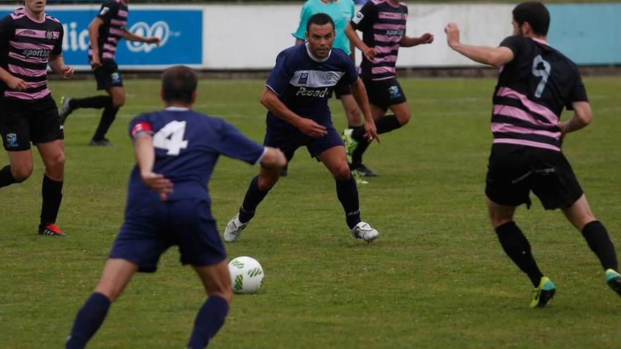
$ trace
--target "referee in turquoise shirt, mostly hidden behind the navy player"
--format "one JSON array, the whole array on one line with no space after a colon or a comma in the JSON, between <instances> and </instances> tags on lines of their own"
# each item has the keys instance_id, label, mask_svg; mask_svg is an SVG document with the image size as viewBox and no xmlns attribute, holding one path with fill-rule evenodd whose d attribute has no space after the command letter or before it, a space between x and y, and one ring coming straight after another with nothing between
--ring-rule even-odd
<instances>
[{"instance_id":1,"label":"referee in turquoise shirt, mostly hidden behind the navy player","mask_svg":"<svg viewBox=\"0 0 621 349\"><path fill-rule=\"evenodd\" d=\"M351 0L308 0L306 1L300 12L300 25L298 30L294 32L296 38L296 45L302 44L306 40L306 23L308 18L315 13L326 13L334 21L334 44L332 47L342 49L346 54L349 54L351 61L356 63L356 51L354 45L349 42L347 35L345 35L345 27L348 25L349 20L354 18L354 1ZM345 111L345 117L347 118L347 128L355 128L362 125L362 113L356 99L351 95L349 85L344 83L343 80L339 81L334 88L334 95L337 99L341 100L343 109ZM286 169L282 175L286 175Z\"/></svg>"}]
</instances>

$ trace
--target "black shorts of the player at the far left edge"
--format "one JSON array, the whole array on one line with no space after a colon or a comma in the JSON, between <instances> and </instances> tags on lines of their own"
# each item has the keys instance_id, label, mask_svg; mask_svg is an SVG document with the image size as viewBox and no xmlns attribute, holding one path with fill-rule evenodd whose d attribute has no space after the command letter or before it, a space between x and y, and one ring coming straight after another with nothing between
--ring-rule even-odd
<instances>
[{"instance_id":1,"label":"black shorts of the player at the far left edge","mask_svg":"<svg viewBox=\"0 0 621 349\"><path fill-rule=\"evenodd\" d=\"M0 135L7 152L30 149L30 142L63 140L63 125L51 94L37 101L0 99Z\"/></svg>"}]
</instances>

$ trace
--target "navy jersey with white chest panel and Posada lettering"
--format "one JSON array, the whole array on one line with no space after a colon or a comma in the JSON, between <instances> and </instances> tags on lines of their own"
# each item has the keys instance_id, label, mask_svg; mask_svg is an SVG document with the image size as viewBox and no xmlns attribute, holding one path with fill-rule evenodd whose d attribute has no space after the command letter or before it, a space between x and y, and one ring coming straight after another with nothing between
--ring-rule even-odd
<instances>
[{"instance_id":1,"label":"navy jersey with white chest panel and Posada lettering","mask_svg":"<svg viewBox=\"0 0 621 349\"><path fill-rule=\"evenodd\" d=\"M330 93L339 80L348 85L356 82L358 71L344 51L332 48L326 59L317 59L307 45L299 44L280 52L265 85L294 113L327 126L332 122L327 106ZM267 128L278 131L293 125L268 111Z\"/></svg>"}]
</instances>

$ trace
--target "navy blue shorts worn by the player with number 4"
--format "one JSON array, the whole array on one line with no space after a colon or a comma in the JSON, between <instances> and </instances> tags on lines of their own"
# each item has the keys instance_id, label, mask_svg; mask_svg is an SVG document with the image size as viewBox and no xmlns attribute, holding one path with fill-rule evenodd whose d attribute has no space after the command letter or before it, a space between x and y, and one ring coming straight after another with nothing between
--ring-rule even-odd
<instances>
[{"instance_id":1,"label":"navy blue shorts worn by the player with number 4","mask_svg":"<svg viewBox=\"0 0 621 349\"><path fill-rule=\"evenodd\" d=\"M138 271L152 273L159 256L173 245L179 246L182 264L204 267L227 258L209 202L157 200L132 209L126 213L109 257L126 259L138 264Z\"/></svg>"}]
</instances>

